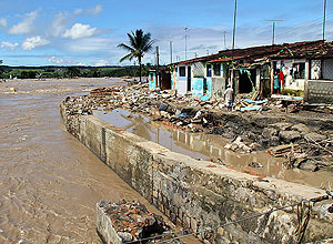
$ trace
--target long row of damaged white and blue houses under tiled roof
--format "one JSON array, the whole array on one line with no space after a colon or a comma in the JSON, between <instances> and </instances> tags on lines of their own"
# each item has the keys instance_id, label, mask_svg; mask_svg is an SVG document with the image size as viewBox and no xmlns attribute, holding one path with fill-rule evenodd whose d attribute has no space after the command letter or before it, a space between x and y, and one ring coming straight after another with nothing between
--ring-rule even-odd
<instances>
[{"instance_id":1,"label":"long row of damaged white and blue houses under tiled roof","mask_svg":"<svg viewBox=\"0 0 333 244\"><path fill-rule=\"evenodd\" d=\"M235 93L255 90L269 96L278 71L283 74L282 89L304 91L310 80L333 80L332 45L323 41L261 45L185 60L170 65L171 89L216 98L230 83Z\"/></svg>"}]
</instances>

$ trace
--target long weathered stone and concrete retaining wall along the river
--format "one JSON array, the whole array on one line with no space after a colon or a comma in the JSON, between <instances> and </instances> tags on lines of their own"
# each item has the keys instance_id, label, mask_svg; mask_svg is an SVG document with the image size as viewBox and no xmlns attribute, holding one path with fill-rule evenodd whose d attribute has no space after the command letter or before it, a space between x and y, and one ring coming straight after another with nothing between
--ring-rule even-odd
<instances>
[{"instance_id":1,"label":"long weathered stone and concrete retaining wall along the river","mask_svg":"<svg viewBox=\"0 0 333 244\"><path fill-rule=\"evenodd\" d=\"M70 115L67 130L171 221L198 232L272 207L325 195L323 190L276 179L259 179L168 149L92 115ZM112 191L112 190L110 190ZM324 202L325 203L325 202ZM332 203L313 207L305 240L333 236ZM286 209L200 234L209 243L296 243L297 210Z\"/></svg>"}]
</instances>

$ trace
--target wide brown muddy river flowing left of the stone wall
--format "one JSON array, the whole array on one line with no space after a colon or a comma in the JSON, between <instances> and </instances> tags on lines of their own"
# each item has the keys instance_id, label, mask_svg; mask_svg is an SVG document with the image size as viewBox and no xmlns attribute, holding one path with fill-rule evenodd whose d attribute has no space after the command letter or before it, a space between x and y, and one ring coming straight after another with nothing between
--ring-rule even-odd
<instances>
[{"instance_id":1,"label":"wide brown muddy river flowing left of the stone wall","mask_svg":"<svg viewBox=\"0 0 333 244\"><path fill-rule=\"evenodd\" d=\"M1 244L100 243L94 209L101 199L139 199L157 212L62 125L59 104L67 95L115 83L0 83Z\"/></svg>"}]
</instances>

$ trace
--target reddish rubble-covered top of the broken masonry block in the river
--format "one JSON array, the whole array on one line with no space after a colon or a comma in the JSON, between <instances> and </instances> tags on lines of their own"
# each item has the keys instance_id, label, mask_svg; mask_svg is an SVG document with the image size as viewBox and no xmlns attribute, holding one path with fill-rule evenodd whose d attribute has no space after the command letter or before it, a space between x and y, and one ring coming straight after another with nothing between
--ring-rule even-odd
<instances>
[{"instance_id":1,"label":"reddish rubble-covered top of the broken masonry block in the river","mask_svg":"<svg viewBox=\"0 0 333 244\"><path fill-rule=\"evenodd\" d=\"M174 237L163 218L148 212L138 200L117 203L101 200L98 205L110 217L112 227L123 243L157 243Z\"/></svg>"}]
</instances>

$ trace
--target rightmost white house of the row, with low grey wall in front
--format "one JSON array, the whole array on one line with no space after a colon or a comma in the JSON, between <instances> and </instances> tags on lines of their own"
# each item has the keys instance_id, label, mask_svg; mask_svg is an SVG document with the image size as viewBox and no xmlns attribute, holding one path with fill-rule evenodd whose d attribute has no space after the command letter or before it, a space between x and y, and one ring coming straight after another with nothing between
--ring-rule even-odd
<instances>
[{"instance_id":1,"label":"rightmost white house of the row, with low grey wall in front","mask_svg":"<svg viewBox=\"0 0 333 244\"><path fill-rule=\"evenodd\" d=\"M283 89L304 91L310 104L333 104L333 42L284 47L271 60L272 75L283 74Z\"/></svg>"}]
</instances>

